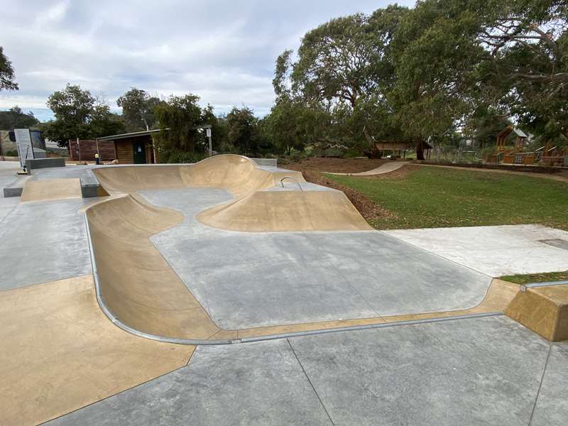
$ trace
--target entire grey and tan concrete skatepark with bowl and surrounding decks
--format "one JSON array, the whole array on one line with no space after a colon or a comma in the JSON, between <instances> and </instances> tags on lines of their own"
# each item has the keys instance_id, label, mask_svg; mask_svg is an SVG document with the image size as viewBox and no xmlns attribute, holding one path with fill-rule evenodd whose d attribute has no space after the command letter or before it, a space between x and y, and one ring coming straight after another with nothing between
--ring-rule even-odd
<instances>
[{"instance_id":1,"label":"entire grey and tan concrete skatepark with bowl and surrounding decks","mask_svg":"<svg viewBox=\"0 0 568 426\"><path fill-rule=\"evenodd\" d=\"M1 187L16 169L0 162ZM568 416L567 283L498 279L567 270L566 231L377 231L343 192L240 155L16 180L0 424Z\"/></svg>"}]
</instances>

